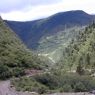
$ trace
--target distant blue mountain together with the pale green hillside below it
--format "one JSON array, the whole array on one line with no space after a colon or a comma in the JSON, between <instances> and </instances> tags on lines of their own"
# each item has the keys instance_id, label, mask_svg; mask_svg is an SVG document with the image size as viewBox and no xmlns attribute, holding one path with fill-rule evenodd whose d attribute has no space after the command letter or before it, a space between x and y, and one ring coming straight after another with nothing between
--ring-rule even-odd
<instances>
[{"instance_id":1,"label":"distant blue mountain together with the pale green hillside below it","mask_svg":"<svg viewBox=\"0 0 95 95\"><path fill-rule=\"evenodd\" d=\"M47 54L58 62L62 50L85 26L95 20L94 15L82 10L54 14L45 19L29 22L5 21L25 45L38 54Z\"/></svg>"}]
</instances>

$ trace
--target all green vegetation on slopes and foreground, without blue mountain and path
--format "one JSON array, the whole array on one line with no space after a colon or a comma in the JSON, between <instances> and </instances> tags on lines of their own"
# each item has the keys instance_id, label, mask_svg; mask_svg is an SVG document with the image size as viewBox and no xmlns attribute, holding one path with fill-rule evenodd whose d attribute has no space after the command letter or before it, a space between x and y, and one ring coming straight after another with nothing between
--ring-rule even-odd
<instances>
[{"instance_id":1,"label":"all green vegetation on slopes and foreground, without blue mountain and path","mask_svg":"<svg viewBox=\"0 0 95 95\"><path fill-rule=\"evenodd\" d=\"M95 89L95 23L45 36L39 41L39 50L44 58L33 55L0 19L0 79L23 76L30 68L46 69L51 62L48 58L59 57L47 72L12 79L12 84L17 90L40 94Z\"/></svg>"}]
</instances>

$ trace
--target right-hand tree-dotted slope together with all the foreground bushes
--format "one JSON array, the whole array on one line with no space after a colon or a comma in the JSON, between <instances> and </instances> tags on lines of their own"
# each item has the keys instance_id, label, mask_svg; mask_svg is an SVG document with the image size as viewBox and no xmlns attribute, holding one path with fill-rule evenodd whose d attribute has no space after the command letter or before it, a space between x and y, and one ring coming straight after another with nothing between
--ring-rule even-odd
<instances>
[{"instance_id":1,"label":"right-hand tree-dotted slope together with all the foreground bushes","mask_svg":"<svg viewBox=\"0 0 95 95\"><path fill-rule=\"evenodd\" d=\"M95 89L94 68L95 24L93 23L79 31L78 35L71 39L63 50L63 57L53 65L49 72L33 77L14 79L12 83L16 89L24 91L39 89L36 90L38 93L88 92ZM25 82L26 80L28 82ZM38 86L34 86L34 81Z\"/></svg>"}]
</instances>

